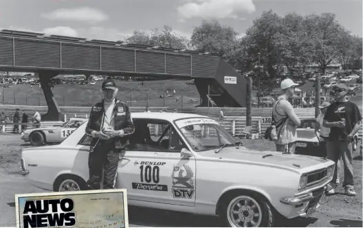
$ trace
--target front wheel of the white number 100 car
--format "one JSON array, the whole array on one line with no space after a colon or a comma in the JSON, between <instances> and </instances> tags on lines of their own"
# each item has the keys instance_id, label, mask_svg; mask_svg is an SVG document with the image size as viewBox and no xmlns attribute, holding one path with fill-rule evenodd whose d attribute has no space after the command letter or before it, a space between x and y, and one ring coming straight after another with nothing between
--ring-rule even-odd
<instances>
[{"instance_id":1,"label":"front wheel of the white number 100 car","mask_svg":"<svg viewBox=\"0 0 363 228\"><path fill-rule=\"evenodd\" d=\"M238 210L236 207L239 207ZM220 216L227 227L244 227L244 223L248 227L272 227L275 221L273 207L267 200L245 192L226 197Z\"/></svg>"}]
</instances>

